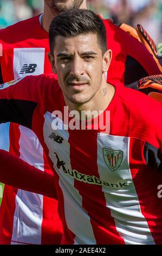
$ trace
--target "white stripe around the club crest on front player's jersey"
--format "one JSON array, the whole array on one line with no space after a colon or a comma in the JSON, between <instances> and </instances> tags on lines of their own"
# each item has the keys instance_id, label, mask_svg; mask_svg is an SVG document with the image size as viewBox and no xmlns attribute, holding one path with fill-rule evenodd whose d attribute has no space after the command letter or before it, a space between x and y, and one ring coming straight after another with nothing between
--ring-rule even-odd
<instances>
[{"instance_id":1,"label":"white stripe around the club crest on front player's jersey","mask_svg":"<svg viewBox=\"0 0 162 256\"><path fill-rule=\"evenodd\" d=\"M103 158L102 149L123 151L123 160L118 169L112 172ZM102 186L107 208L111 209L116 230L126 244L154 244L147 221L141 213L137 192L129 169L129 138L98 134L98 169L100 179L109 184L126 184L119 188Z\"/></svg>"}]
</instances>

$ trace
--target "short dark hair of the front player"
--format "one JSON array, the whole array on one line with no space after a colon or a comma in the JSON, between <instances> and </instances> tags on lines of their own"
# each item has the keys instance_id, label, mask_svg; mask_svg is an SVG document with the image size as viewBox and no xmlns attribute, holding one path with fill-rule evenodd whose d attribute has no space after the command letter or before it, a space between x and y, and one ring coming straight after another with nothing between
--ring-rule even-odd
<instances>
[{"instance_id":1,"label":"short dark hair of the front player","mask_svg":"<svg viewBox=\"0 0 162 256\"><path fill-rule=\"evenodd\" d=\"M103 21L93 11L86 9L69 9L56 16L49 27L49 46L53 54L55 37L62 35L72 37L93 33L98 36L102 54L107 51L106 28Z\"/></svg>"}]
</instances>

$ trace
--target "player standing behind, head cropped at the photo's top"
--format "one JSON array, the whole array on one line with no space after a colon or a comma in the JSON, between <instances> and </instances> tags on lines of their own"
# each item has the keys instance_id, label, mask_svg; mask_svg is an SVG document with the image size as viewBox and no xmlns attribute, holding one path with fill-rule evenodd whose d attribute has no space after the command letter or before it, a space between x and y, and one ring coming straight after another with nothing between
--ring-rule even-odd
<instances>
[{"instance_id":1,"label":"player standing behind, head cropped at the photo's top","mask_svg":"<svg viewBox=\"0 0 162 256\"><path fill-rule=\"evenodd\" d=\"M44 0L43 14L0 32L3 46L1 82L51 72L47 57L50 22L61 11L74 7L86 9L86 0ZM152 54L144 45L108 20L104 23L107 45L113 52L107 74L109 83L129 86L141 77L159 74ZM10 124L10 152L42 171L50 172L37 137L21 125ZM61 234L55 200L5 186L0 208L0 243L59 243Z\"/></svg>"}]
</instances>

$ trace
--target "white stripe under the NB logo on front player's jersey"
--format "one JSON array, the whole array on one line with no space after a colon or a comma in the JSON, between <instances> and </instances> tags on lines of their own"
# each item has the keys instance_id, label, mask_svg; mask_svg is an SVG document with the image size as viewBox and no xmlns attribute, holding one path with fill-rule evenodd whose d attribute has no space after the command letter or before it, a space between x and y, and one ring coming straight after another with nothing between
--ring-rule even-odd
<instances>
[{"instance_id":1,"label":"white stripe under the NB logo on front player's jersey","mask_svg":"<svg viewBox=\"0 0 162 256\"><path fill-rule=\"evenodd\" d=\"M76 235L74 244L96 244L90 218L85 210L82 209L82 197L79 191L74 187L74 178L63 172L62 167L57 168L57 159L54 153L57 153L60 161L64 161L66 169L72 170L70 165L70 145L68 143L69 133L67 130L53 130L51 123L54 118L51 113L44 114L44 141L49 149L49 157L54 163L54 168L60 176L59 185L61 187L64 198L64 214L68 228ZM60 120L62 127L62 120ZM49 138L54 132L63 138L62 143L57 143Z\"/></svg>"}]
</instances>

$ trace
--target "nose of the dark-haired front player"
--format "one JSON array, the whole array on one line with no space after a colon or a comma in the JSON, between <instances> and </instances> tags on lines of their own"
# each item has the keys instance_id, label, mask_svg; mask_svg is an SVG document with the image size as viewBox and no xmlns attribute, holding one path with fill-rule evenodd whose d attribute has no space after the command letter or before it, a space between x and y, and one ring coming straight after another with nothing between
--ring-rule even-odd
<instances>
[{"instance_id":1,"label":"nose of the dark-haired front player","mask_svg":"<svg viewBox=\"0 0 162 256\"><path fill-rule=\"evenodd\" d=\"M70 75L75 77L79 77L84 74L84 63L83 59L79 56L74 56L71 67L70 67Z\"/></svg>"}]
</instances>

